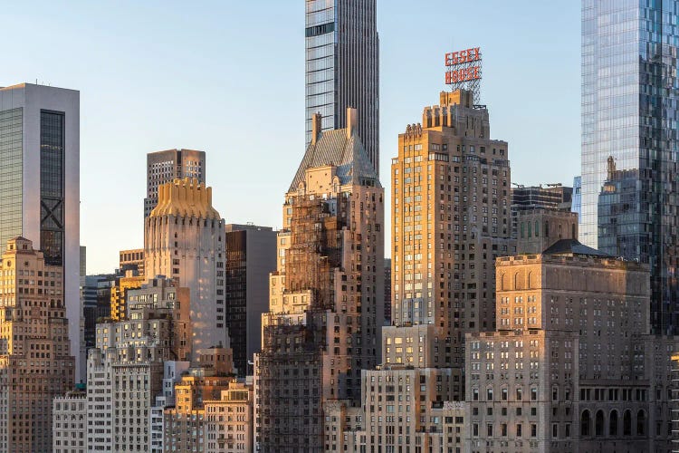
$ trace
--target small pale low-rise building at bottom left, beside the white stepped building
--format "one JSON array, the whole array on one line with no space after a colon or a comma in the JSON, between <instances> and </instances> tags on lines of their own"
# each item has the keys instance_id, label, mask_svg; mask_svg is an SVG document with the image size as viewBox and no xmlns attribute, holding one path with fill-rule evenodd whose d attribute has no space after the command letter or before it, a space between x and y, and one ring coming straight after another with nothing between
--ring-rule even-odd
<instances>
[{"instance_id":1,"label":"small pale low-rise building at bottom left, beside the white stepped building","mask_svg":"<svg viewBox=\"0 0 679 453\"><path fill-rule=\"evenodd\" d=\"M70 391L53 400L53 453L87 451L87 394Z\"/></svg>"}]
</instances>

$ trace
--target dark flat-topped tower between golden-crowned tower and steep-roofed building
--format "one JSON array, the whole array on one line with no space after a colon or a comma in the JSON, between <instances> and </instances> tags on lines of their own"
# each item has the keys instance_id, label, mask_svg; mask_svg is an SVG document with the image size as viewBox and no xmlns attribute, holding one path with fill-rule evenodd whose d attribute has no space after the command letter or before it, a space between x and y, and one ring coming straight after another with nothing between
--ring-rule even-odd
<instances>
[{"instance_id":1,"label":"dark flat-topped tower between golden-crowned tower and steep-roofed building","mask_svg":"<svg viewBox=\"0 0 679 453\"><path fill-rule=\"evenodd\" d=\"M276 232L270 226L225 226L225 323L240 377L262 347L262 314L269 311L269 274L276 270ZM217 273L219 276L219 272Z\"/></svg>"}]
</instances>

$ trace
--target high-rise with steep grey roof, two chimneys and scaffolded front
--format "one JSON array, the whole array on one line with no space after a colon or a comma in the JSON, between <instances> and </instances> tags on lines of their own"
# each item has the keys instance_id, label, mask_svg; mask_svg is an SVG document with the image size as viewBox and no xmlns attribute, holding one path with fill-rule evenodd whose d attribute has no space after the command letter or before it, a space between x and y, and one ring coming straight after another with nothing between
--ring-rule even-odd
<instances>
[{"instance_id":1,"label":"high-rise with steep grey roof, two chimneys and scaffolded front","mask_svg":"<svg viewBox=\"0 0 679 453\"><path fill-rule=\"evenodd\" d=\"M384 191L357 132L320 131L285 195L255 369L262 451L323 448L322 405L358 404L384 319Z\"/></svg>"}]
</instances>

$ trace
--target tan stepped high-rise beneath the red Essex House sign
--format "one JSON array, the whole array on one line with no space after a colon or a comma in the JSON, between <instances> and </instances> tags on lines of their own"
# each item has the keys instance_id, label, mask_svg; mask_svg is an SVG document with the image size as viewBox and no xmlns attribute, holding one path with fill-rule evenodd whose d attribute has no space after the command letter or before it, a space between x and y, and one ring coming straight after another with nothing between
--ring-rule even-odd
<instances>
[{"instance_id":1,"label":"tan stepped high-rise beneath the red Essex House sign","mask_svg":"<svg viewBox=\"0 0 679 453\"><path fill-rule=\"evenodd\" d=\"M464 369L464 333L495 325L493 261L514 252L506 141L472 92L442 92L392 159L392 327L432 324L428 366ZM418 366L406 358L406 364ZM454 399L463 398L458 381Z\"/></svg>"}]
</instances>

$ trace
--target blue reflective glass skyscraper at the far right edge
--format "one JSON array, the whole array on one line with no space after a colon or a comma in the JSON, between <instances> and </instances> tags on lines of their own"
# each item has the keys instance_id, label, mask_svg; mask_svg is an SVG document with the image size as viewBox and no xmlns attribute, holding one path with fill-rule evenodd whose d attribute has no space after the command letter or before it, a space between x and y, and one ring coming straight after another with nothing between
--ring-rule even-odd
<instances>
[{"instance_id":1,"label":"blue reflective glass skyscraper at the far right edge","mask_svg":"<svg viewBox=\"0 0 679 453\"><path fill-rule=\"evenodd\" d=\"M582 1L580 240L650 265L655 333L679 333L678 12L677 0ZM622 211L624 236L609 237Z\"/></svg>"}]
</instances>

